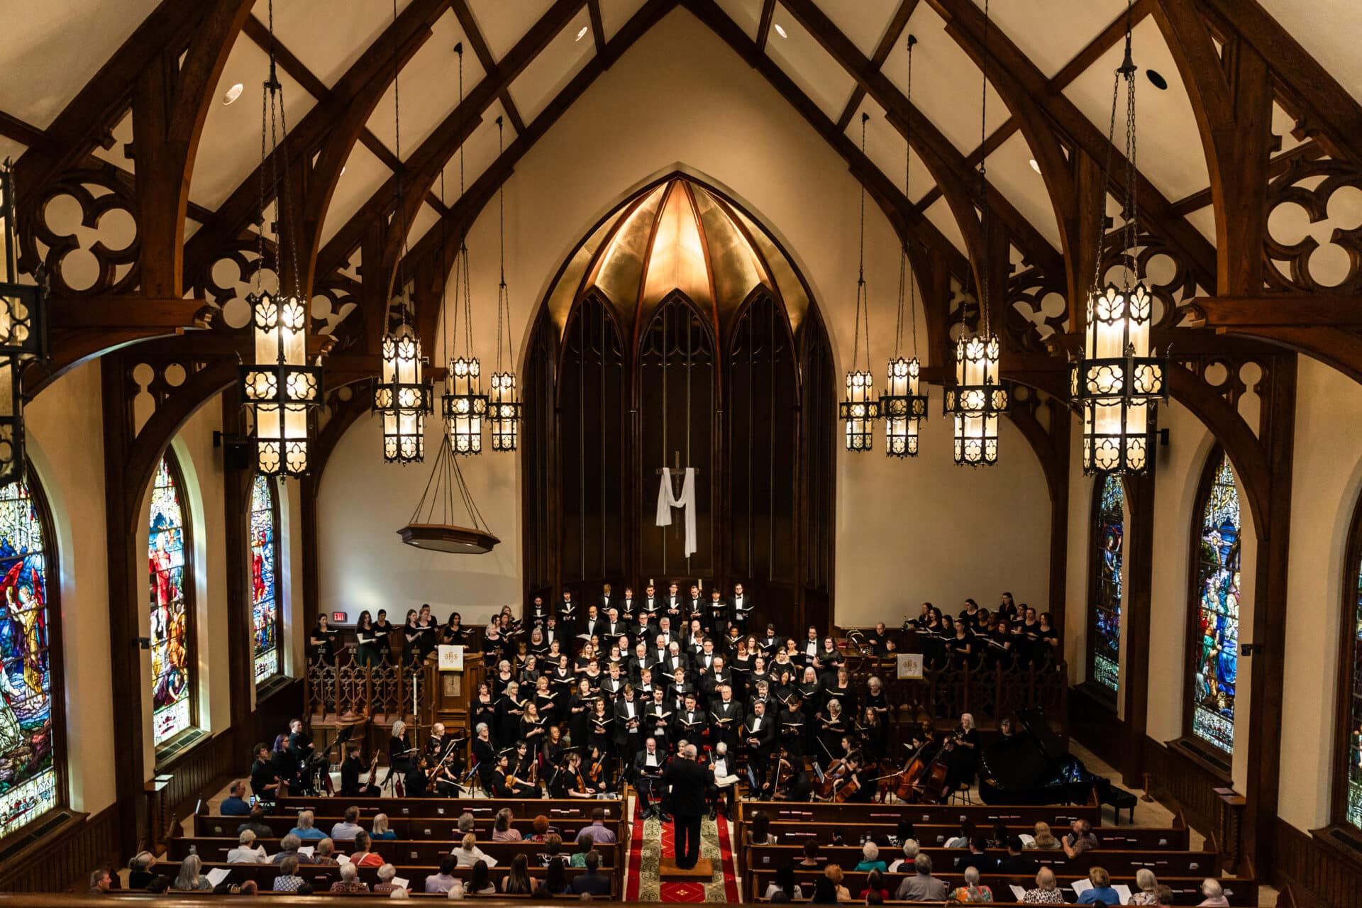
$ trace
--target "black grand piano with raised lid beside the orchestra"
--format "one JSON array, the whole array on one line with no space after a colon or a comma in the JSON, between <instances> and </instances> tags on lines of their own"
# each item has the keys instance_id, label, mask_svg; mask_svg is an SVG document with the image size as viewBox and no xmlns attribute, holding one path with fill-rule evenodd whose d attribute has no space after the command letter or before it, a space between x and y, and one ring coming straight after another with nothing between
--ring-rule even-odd
<instances>
[{"instance_id":1,"label":"black grand piano with raised lid beside the orchestra","mask_svg":"<svg viewBox=\"0 0 1362 908\"><path fill-rule=\"evenodd\" d=\"M1110 781L1094 776L1083 761L1069 754L1039 709L1016 715L1012 735L998 739L979 756L979 798L986 805L1079 805L1096 785Z\"/></svg>"}]
</instances>

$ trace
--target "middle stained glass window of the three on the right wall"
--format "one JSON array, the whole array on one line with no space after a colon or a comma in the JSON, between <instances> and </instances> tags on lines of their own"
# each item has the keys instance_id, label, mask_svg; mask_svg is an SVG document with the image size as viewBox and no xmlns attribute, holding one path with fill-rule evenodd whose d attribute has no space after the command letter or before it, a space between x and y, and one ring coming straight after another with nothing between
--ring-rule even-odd
<instances>
[{"instance_id":1,"label":"middle stained glass window of the three on the right wall","mask_svg":"<svg viewBox=\"0 0 1362 908\"><path fill-rule=\"evenodd\" d=\"M1239 493L1230 459L1218 453L1203 489L1192 664L1192 734L1234 750L1239 662Z\"/></svg>"}]
</instances>

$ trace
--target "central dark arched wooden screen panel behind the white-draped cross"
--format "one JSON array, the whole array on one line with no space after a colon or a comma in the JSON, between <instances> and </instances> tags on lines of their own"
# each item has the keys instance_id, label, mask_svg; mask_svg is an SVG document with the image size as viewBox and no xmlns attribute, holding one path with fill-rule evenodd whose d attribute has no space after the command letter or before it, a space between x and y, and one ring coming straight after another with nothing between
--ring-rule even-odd
<instances>
[{"instance_id":1,"label":"central dark arched wooden screen panel behind the white-draped cross","mask_svg":"<svg viewBox=\"0 0 1362 908\"><path fill-rule=\"evenodd\" d=\"M718 430L714 338L699 310L676 293L639 339L639 547L647 577L714 576L714 451ZM685 554L685 520L656 525L658 470L696 467L696 551ZM565 474L569 475L569 474ZM676 487L680 489L677 478ZM661 584L659 584L661 585Z\"/></svg>"}]
</instances>

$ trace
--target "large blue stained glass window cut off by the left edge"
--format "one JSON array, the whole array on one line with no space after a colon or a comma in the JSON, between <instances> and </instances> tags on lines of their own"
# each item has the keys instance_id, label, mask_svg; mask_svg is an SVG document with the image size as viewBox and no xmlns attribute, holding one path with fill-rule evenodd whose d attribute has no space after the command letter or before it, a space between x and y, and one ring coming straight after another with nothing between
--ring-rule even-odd
<instances>
[{"instance_id":1,"label":"large blue stained glass window cut off by the left edge","mask_svg":"<svg viewBox=\"0 0 1362 908\"><path fill-rule=\"evenodd\" d=\"M57 806L42 521L29 489L0 489L0 837Z\"/></svg>"}]
</instances>

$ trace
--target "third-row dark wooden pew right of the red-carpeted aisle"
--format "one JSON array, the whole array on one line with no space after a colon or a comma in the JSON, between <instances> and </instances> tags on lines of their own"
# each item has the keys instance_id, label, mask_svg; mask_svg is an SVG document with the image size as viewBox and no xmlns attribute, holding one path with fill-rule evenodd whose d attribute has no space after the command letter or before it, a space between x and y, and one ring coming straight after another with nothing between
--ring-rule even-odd
<instances>
[{"instance_id":1,"label":"third-row dark wooden pew right of the red-carpeted aisle","mask_svg":"<svg viewBox=\"0 0 1362 908\"><path fill-rule=\"evenodd\" d=\"M746 866L755 869L776 869L798 862L802 856L799 845L746 845ZM947 871L955 866L956 859L968 854L964 848L923 848L932 859L932 866ZM989 849L989 858L997 860L1007 856L1007 849ZM1066 858L1062 851L1028 851L1026 855L1036 863L1050 867L1056 877L1084 875L1092 867L1105 867L1113 877L1135 877L1136 871L1148 869L1160 879L1169 877L1219 877L1220 854L1215 851L1111 851L1098 848L1077 858ZM861 862L859 845L838 845L819 848L819 856L827 863L838 864L843 870L851 870ZM880 859L892 863L903 856L903 852L889 849L880 851Z\"/></svg>"}]
</instances>

